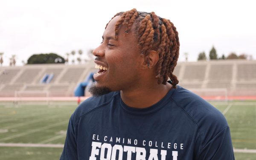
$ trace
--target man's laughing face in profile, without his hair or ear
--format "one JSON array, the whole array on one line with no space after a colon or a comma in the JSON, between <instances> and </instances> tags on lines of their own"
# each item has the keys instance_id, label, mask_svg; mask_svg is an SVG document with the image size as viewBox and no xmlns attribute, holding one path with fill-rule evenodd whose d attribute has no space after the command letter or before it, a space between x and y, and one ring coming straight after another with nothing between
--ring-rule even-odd
<instances>
[{"instance_id":1,"label":"man's laughing face in profile, without his hair or ear","mask_svg":"<svg viewBox=\"0 0 256 160\"><path fill-rule=\"evenodd\" d=\"M121 26L118 32L118 40L115 40L115 24L120 16L113 18L108 23L102 36L102 43L93 54L95 63L107 71L100 70L101 74L94 74L96 88L107 87L111 91L132 89L140 80L140 65L143 57L140 55L137 37L131 31L125 35L125 27ZM98 66L98 67L99 67Z\"/></svg>"}]
</instances>

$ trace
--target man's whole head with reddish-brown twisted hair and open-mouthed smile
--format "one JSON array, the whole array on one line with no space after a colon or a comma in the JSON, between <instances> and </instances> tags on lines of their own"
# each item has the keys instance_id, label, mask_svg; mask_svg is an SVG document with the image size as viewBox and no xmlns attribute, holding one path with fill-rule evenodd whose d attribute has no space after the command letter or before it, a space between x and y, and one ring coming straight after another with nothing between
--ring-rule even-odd
<instances>
[{"instance_id":1,"label":"man's whole head with reddish-brown twisted hair and open-mouthed smile","mask_svg":"<svg viewBox=\"0 0 256 160\"><path fill-rule=\"evenodd\" d=\"M99 69L93 89L101 94L118 90L134 94L155 84L166 85L168 79L174 88L179 83L172 72L180 43L170 20L136 9L119 12L107 24L102 39L93 51Z\"/></svg>"}]
</instances>

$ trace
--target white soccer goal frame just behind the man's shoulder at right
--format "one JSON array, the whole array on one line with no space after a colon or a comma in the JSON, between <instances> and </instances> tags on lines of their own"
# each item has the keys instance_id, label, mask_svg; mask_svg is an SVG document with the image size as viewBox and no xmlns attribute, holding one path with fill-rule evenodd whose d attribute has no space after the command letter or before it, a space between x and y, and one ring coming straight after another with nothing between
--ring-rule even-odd
<instances>
[{"instance_id":1,"label":"white soccer goal frame just behind the man's shoulder at right","mask_svg":"<svg viewBox=\"0 0 256 160\"><path fill-rule=\"evenodd\" d=\"M205 100L224 100L228 101L227 89L188 89Z\"/></svg>"}]
</instances>

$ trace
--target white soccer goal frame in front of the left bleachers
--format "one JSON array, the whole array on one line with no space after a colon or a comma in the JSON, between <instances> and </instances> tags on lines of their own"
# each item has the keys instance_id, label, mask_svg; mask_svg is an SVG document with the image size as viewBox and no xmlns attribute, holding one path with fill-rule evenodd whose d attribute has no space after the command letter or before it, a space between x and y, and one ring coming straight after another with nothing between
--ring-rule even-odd
<instances>
[{"instance_id":1,"label":"white soccer goal frame in front of the left bleachers","mask_svg":"<svg viewBox=\"0 0 256 160\"><path fill-rule=\"evenodd\" d=\"M46 102L49 105L49 91L15 91L14 102Z\"/></svg>"}]
</instances>

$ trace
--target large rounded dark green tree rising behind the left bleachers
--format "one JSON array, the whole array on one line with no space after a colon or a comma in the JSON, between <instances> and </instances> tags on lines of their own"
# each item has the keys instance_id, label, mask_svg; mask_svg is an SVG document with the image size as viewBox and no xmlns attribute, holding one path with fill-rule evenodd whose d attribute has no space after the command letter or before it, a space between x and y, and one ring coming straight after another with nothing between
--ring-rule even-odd
<instances>
[{"instance_id":1,"label":"large rounded dark green tree rising behind the left bleachers","mask_svg":"<svg viewBox=\"0 0 256 160\"><path fill-rule=\"evenodd\" d=\"M44 64L44 63L65 63L63 57L55 53L33 54L29 57L27 64Z\"/></svg>"}]
</instances>

